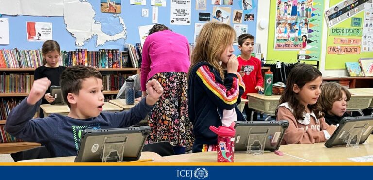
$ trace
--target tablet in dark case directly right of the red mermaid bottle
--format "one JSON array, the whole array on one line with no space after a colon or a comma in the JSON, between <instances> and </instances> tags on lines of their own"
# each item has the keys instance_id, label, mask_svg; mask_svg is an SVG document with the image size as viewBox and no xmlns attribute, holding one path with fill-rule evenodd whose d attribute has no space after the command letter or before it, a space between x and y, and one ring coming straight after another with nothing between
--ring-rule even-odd
<instances>
[{"instance_id":1,"label":"tablet in dark case directly right of the red mermaid bottle","mask_svg":"<svg viewBox=\"0 0 373 180\"><path fill-rule=\"evenodd\" d=\"M249 144L250 147L264 145L264 151L278 150L288 126L286 120L236 121L235 151L247 151Z\"/></svg>"}]
</instances>

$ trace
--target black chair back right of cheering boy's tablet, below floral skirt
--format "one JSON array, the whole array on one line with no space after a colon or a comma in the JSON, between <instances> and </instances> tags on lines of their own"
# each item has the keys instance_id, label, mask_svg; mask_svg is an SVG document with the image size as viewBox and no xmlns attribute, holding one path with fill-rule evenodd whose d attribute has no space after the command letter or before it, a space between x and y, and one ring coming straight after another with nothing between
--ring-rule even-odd
<instances>
[{"instance_id":1,"label":"black chair back right of cheering boy's tablet, below floral skirt","mask_svg":"<svg viewBox=\"0 0 373 180\"><path fill-rule=\"evenodd\" d=\"M160 156L171 156L175 155L172 145L167 141L160 141L151 144L145 144L142 148L142 152L150 151L159 154Z\"/></svg>"}]
</instances>

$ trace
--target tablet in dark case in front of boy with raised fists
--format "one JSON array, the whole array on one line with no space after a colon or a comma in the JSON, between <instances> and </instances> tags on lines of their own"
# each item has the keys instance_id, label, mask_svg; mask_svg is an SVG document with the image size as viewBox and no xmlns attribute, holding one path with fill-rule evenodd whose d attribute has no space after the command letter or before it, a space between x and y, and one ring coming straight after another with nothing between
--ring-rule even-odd
<instances>
[{"instance_id":1,"label":"tablet in dark case in front of boy with raised fists","mask_svg":"<svg viewBox=\"0 0 373 180\"><path fill-rule=\"evenodd\" d=\"M150 133L149 126L118 129L86 129L82 132L75 162L135 161Z\"/></svg>"}]
</instances>

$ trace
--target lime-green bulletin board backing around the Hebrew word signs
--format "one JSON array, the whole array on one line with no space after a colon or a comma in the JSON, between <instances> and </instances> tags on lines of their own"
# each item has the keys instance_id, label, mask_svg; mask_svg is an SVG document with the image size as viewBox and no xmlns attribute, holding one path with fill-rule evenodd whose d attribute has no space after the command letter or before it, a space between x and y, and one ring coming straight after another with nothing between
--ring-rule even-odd
<instances>
[{"instance_id":1,"label":"lime-green bulletin board backing around the Hebrew word signs","mask_svg":"<svg viewBox=\"0 0 373 180\"><path fill-rule=\"evenodd\" d=\"M333 5L336 5L342 1L345 0L330 0L330 7ZM365 11L362 11L360 13L357 13L354 16L351 16L351 18L333 26L332 28L362 28L362 27L352 27L351 26L351 20L352 18L362 18L364 22L364 13ZM362 23L363 24L363 23ZM328 38L327 38L327 47L330 46L345 46L341 44L334 44L334 38L354 38L354 39L361 39L362 36L329 36L329 31L331 31L330 28L328 28ZM361 47L361 45L359 45ZM360 54L328 54L328 50L326 52L325 57L325 69L345 69L346 68L346 62L359 62L360 58L367 58L367 57L373 57L373 52L362 52L360 51Z\"/></svg>"}]
</instances>

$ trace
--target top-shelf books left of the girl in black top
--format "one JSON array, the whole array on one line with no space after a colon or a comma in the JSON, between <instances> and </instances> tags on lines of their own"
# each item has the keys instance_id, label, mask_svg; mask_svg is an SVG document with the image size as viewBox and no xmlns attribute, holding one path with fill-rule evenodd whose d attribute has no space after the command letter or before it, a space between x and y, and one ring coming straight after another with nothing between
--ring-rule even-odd
<instances>
[{"instance_id":1,"label":"top-shelf books left of the girl in black top","mask_svg":"<svg viewBox=\"0 0 373 180\"><path fill-rule=\"evenodd\" d=\"M41 49L0 49L0 68L36 68L42 65Z\"/></svg>"}]
</instances>

